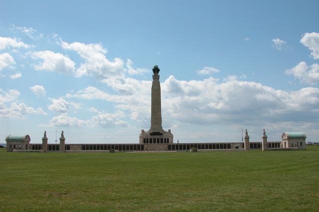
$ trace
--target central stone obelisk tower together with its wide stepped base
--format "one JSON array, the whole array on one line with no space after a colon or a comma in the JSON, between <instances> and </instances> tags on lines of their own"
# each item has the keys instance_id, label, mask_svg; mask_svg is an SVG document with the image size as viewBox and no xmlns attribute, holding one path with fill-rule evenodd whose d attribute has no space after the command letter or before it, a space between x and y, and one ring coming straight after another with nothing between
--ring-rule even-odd
<instances>
[{"instance_id":1,"label":"central stone obelisk tower together with its wide stepped base","mask_svg":"<svg viewBox=\"0 0 319 212\"><path fill-rule=\"evenodd\" d=\"M155 65L153 67L153 83L151 98L151 128L149 131L142 129L140 134L140 143L145 144L167 144L173 143L173 135L168 131L164 131L161 123L161 98L160 98L160 68ZM165 145L164 145L165 146Z\"/></svg>"}]
</instances>

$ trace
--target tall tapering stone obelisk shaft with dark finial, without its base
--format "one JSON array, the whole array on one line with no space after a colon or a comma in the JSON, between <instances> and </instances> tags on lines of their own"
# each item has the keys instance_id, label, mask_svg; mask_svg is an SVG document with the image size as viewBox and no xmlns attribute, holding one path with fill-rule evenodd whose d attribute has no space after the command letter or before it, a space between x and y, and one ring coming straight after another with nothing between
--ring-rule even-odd
<instances>
[{"instance_id":1,"label":"tall tapering stone obelisk shaft with dark finial, without its base","mask_svg":"<svg viewBox=\"0 0 319 212\"><path fill-rule=\"evenodd\" d=\"M163 131L161 126L161 102L160 102L160 69L158 66L153 68L152 83L152 107L151 107L151 129L150 131L158 134Z\"/></svg>"}]
</instances>

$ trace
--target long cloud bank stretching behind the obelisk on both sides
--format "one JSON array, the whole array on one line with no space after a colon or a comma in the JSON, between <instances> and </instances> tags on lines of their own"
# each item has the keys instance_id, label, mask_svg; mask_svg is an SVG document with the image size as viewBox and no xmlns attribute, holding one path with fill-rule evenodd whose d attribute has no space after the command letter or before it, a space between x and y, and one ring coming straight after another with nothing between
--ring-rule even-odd
<instances>
[{"instance_id":1,"label":"long cloud bank stretching behind the obelisk on both sides","mask_svg":"<svg viewBox=\"0 0 319 212\"><path fill-rule=\"evenodd\" d=\"M143 85L140 81L140 86L131 94L115 95L88 87L75 92L72 97L114 102L116 108L128 111L132 119L148 124L151 114L151 83L149 81ZM169 76L161 83L161 91L162 114L166 123L254 124L289 121L292 117L302 119L305 115L310 116L309 121L312 121L311 117L317 117L315 114L319 111L318 88L285 92L237 78L220 83L212 77L200 81L180 81Z\"/></svg>"}]
</instances>

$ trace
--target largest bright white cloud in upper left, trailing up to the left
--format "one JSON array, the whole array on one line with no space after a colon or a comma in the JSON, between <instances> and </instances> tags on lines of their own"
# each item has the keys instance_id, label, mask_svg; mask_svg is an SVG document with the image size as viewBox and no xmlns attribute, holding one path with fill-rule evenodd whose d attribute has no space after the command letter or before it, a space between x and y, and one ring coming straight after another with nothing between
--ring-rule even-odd
<instances>
[{"instance_id":1,"label":"largest bright white cloud in upper left, trailing up to the left","mask_svg":"<svg viewBox=\"0 0 319 212\"><path fill-rule=\"evenodd\" d=\"M101 44L84 44L79 42L67 43L61 41L61 46L66 50L76 51L85 63L81 63L76 70L76 76L94 76L98 79L123 78L125 69L123 60L115 58L114 62L105 57L107 50Z\"/></svg>"}]
</instances>

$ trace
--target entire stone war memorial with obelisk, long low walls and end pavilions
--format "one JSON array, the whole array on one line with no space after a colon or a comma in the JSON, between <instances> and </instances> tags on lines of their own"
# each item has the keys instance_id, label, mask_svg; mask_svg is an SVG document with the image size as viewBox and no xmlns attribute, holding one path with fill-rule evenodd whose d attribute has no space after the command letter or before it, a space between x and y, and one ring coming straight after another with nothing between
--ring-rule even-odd
<instances>
[{"instance_id":1,"label":"entire stone war memorial with obelisk, long low walls and end pavilions","mask_svg":"<svg viewBox=\"0 0 319 212\"><path fill-rule=\"evenodd\" d=\"M60 151L60 152L102 152L102 151L249 151L260 150L299 150L306 149L306 134L304 132L284 132L282 141L267 141L265 129L261 137L262 141L250 142L247 129L245 130L244 142L211 142L211 143L174 143L171 130L162 128L161 118L161 94L160 94L160 68L153 67L153 83L151 98L151 127L148 131L141 130L139 143L128 144L68 144L62 131L59 144L48 144L46 132L42 137L42 144L30 144L29 135L7 135L6 151Z\"/></svg>"}]
</instances>

